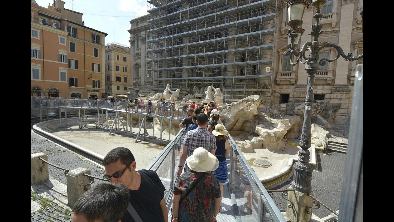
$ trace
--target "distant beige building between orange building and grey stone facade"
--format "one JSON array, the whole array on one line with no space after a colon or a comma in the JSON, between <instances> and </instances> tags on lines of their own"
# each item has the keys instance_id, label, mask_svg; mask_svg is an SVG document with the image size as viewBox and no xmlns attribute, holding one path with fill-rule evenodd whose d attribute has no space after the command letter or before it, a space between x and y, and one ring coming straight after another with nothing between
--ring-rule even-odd
<instances>
[{"instance_id":1,"label":"distant beige building between orange building and grey stone facade","mask_svg":"<svg viewBox=\"0 0 394 222\"><path fill-rule=\"evenodd\" d=\"M107 97L128 95L130 86L130 47L108 43L105 50L105 91Z\"/></svg>"}]
</instances>

